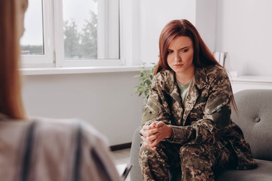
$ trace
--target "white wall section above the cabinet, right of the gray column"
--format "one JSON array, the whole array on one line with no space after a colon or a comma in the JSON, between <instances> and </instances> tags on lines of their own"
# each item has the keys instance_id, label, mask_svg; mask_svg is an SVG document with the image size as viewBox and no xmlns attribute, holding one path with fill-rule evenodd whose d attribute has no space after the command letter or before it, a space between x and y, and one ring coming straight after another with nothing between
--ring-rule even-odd
<instances>
[{"instance_id":1,"label":"white wall section above the cabinet, right of the gray column","mask_svg":"<svg viewBox=\"0 0 272 181\"><path fill-rule=\"evenodd\" d=\"M271 0L218 0L216 49L229 52L230 71L272 76L271 7Z\"/></svg>"}]
</instances>

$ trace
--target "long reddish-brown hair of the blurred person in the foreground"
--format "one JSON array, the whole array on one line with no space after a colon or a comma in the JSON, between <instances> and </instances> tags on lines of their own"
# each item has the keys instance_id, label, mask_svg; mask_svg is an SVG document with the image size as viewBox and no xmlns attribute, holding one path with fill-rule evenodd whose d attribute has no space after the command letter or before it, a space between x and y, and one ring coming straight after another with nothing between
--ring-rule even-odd
<instances>
[{"instance_id":1,"label":"long reddish-brown hair of the blurred person in the foreground","mask_svg":"<svg viewBox=\"0 0 272 181\"><path fill-rule=\"evenodd\" d=\"M0 1L0 113L24 119L19 72L20 32L18 10L22 0ZM24 6L27 6L27 0Z\"/></svg>"}]
</instances>

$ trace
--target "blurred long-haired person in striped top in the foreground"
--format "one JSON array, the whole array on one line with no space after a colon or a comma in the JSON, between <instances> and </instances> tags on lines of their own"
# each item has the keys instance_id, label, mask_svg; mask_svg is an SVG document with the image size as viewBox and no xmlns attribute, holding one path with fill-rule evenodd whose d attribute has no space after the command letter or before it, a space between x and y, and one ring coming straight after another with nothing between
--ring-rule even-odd
<instances>
[{"instance_id":1,"label":"blurred long-haired person in striped top in the foreground","mask_svg":"<svg viewBox=\"0 0 272 181\"><path fill-rule=\"evenodd\" d=\"M0 0L0 180L121 180L91 125L24 113L18 69L27 6Z\"/></svg>"}]
</instances>

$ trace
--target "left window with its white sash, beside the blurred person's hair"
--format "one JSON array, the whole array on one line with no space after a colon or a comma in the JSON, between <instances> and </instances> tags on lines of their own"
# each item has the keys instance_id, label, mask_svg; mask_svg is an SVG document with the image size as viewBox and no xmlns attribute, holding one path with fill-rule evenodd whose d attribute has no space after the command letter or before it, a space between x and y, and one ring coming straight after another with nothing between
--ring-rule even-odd
<instances>
[{"instance_id":1,"label":"left window with its white sash, beside the blurred person's hair","mask_svg":"<svg viewBox=\"0 0 272 181\"><path fill-rule=\"evenodd\" d=\"M22 67L54 67L50 3L29 0L21 38ZM45 15L49 14L49 15Z\"/></svg>"}]
</instances>

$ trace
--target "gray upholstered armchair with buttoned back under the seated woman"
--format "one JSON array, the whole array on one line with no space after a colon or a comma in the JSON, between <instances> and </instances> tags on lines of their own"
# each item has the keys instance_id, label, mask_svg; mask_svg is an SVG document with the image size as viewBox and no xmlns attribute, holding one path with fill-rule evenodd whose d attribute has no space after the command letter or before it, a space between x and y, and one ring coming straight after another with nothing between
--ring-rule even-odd
<instances>
[{"instance_id":1,"label":"gray upholstered armchair with buttoned back under the seated woman","mask_svg":"<svg viewBox=\"0 0 272 181\"><path fill-rule=\"evenodd\" d=\"M250 143L252 155L258 163L253 170L225 170L216 173L216 180L272 180L272 90L245 90L234 94L238 115L232 113L232 120L243 130L245 140ZM138 127L135 130L130 151L130 181L142 180L139 168ZM181 180L181 171L169 171L170 180Z\"/></svg>"}]
</instances>

